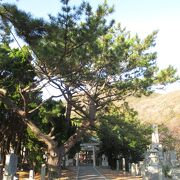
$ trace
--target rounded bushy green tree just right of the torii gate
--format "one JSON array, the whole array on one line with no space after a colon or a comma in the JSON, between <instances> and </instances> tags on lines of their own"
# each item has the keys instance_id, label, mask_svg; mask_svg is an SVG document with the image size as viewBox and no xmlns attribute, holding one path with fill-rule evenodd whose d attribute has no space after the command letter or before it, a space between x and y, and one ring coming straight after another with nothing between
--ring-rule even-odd
<instances>
[{"instance_id":1,"label":"rounded bushy green tree just right of the torii gate","mask_svg":"<svg viewBox=\"0 0 180 180\"><path fill-rule=\"evenodd\" d=\"M126 158L128 162L143 159L150 144L151 127L140 122L137 112L124 103L119 108L112 106L98 118L97 135L102 142L101 153L108 156L112 168L115 168L119 157Z\"/></svg>"}]
</instances>

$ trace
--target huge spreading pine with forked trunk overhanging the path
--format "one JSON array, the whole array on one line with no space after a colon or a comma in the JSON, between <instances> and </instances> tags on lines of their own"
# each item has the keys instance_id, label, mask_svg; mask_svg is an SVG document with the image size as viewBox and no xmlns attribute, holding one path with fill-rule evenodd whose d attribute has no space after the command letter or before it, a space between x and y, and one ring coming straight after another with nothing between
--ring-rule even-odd
<instances>
[{"instance_id":1,"label":"huge spreading pine with forked trunk overhanging the path","mask_svg":"<svg viewBox=\"0 0 180 180\"><path fill-rule=\"evenodd\" d=\"M98 111L112 101L148 95L152 85L177 79L171 68L164 70L166 77L160 78L163 73L158 73L156 53L152 51L156 31L141 40L114 25L114 21L108 23L106 18L113 8L106 1L95 11L87 2L79 7L70 6L69 0L61 3L61 12L57 17L49 16L49 21L33 18L14 5L3 4L0 8L6 29L13 26L33 52L38 78L59 89L59 95L65 99L66 119L78 116L81 120L76 132L59 147L50 134L42 133L28 119L27 113L13 106L48 146L48 164L56 172L62 153L68 152L94 126ZM0 97L7 98L3 93Z\"/></svg>"}]
</instances>

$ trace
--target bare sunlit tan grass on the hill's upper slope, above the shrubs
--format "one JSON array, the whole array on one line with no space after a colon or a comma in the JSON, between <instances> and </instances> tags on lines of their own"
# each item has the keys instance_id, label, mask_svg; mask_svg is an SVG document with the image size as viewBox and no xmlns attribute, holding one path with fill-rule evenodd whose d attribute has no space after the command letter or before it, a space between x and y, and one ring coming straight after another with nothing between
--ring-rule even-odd
<instances>
[{"instance_id":1,"label":"bare sunlit tan grass on the hill's upper slope, above the shrubs","mask_svg":"<svg viewBox=\"0 0 180 180\"><path fill-rule=\"evenodd\" d=\"M145 122L170 124L172 121L178 122L180 118L180 91L129 98L128 102L138 111L140 119Z\"/></svg>"}]
</instances>

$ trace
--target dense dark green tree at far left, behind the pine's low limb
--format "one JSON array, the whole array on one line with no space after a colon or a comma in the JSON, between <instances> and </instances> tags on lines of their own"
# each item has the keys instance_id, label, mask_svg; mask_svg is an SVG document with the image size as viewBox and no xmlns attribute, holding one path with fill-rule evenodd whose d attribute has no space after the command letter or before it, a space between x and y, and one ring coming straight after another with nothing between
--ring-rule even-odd
<instances>
[{"instance_id":1,"label":"dense dark green tree at far left, behind the pine's low limb","mask_svg":"<svg viewBox=\"0 0 180 180\"><path fill-rule=\"evenodd\" d=\"M8 43L0 44L0 87L6 89L5 93L14 101L14 106L18 106L26 112L30 112L41 102L39 91L32 91L28 94L24 92L24 88L36 84L31 60L27 47L19 50L10 48ZM8 99L5 101L8 101ZM13 149L19 156L18 162L23 163L25 157L21 152L26 147L26 153L31 151L31 162L36 164L40 162L38 159L41 155L40 151L37 151L37 155L35 155L35 152L29 146L26 146L31 136L27 133L24 117L15 114L13 108L8 107L6 103L1 102L0 107L0 143L3 161L5 155ZM36 120L39 119L37 113L34 113L34 116ZM32 142L35 142L35 140ZM39 145L37 144L37 146ZM31 164L33 165L33 163Z\"/></svg>"}]
</instances>

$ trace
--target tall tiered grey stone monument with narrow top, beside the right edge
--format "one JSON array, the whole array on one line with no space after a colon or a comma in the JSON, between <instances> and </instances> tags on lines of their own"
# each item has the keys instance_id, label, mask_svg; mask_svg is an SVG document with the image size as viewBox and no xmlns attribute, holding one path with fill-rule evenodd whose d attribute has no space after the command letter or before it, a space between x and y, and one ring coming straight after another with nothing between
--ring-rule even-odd
<instances>
[{"instance_id":1,"label":"tall tiered grey stone monument with narrow top, beside the right edge","mask_svg":"<svg viewBox=\"0 0 180 180\"><path fill-rule=\"evenodd\" d=\"M148 149L145 154L142 166L143 179L163 180L167 175L172 178L178 177L180 179L176 152L164 152L162 145L159 143L158 126L153 125L152 130L152 143L150 149Z\"/></svg>"}]
</instances>

